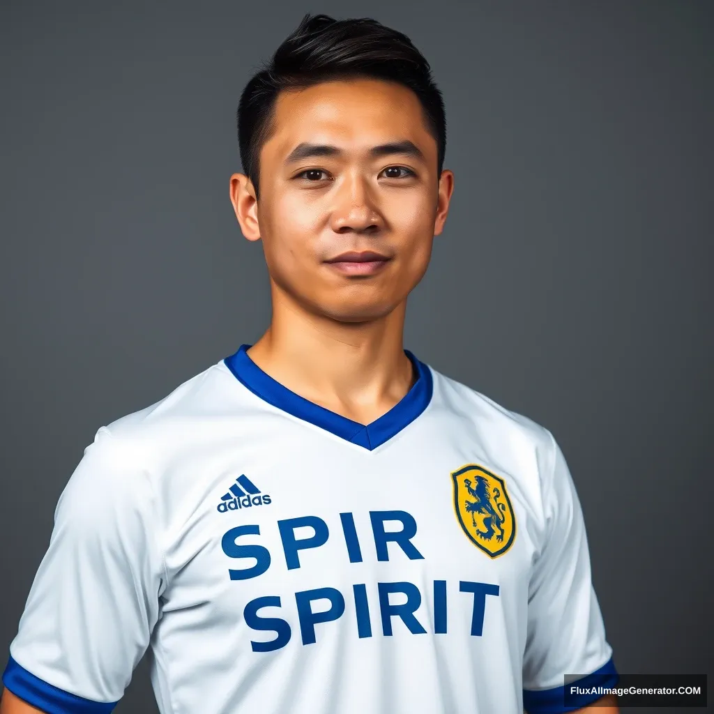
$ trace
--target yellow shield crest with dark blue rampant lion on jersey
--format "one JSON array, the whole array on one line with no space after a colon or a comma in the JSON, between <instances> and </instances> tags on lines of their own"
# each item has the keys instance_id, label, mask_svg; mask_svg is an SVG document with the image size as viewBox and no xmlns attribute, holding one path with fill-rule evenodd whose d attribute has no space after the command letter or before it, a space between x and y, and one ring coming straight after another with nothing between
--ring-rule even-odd
<instances>
[{"instance_id":1,"label":"yellow shield crest with dark blue rampant lion on jersey","mask_svg":"<svg viewBox=\"0 0 714 714\"><path fill-rule=\"evenodd\" d=\"M516 518L503 478L470 463L451 472L456 518L471 542L496 558L516 538Z\"/></svg>"}]
</instances>

